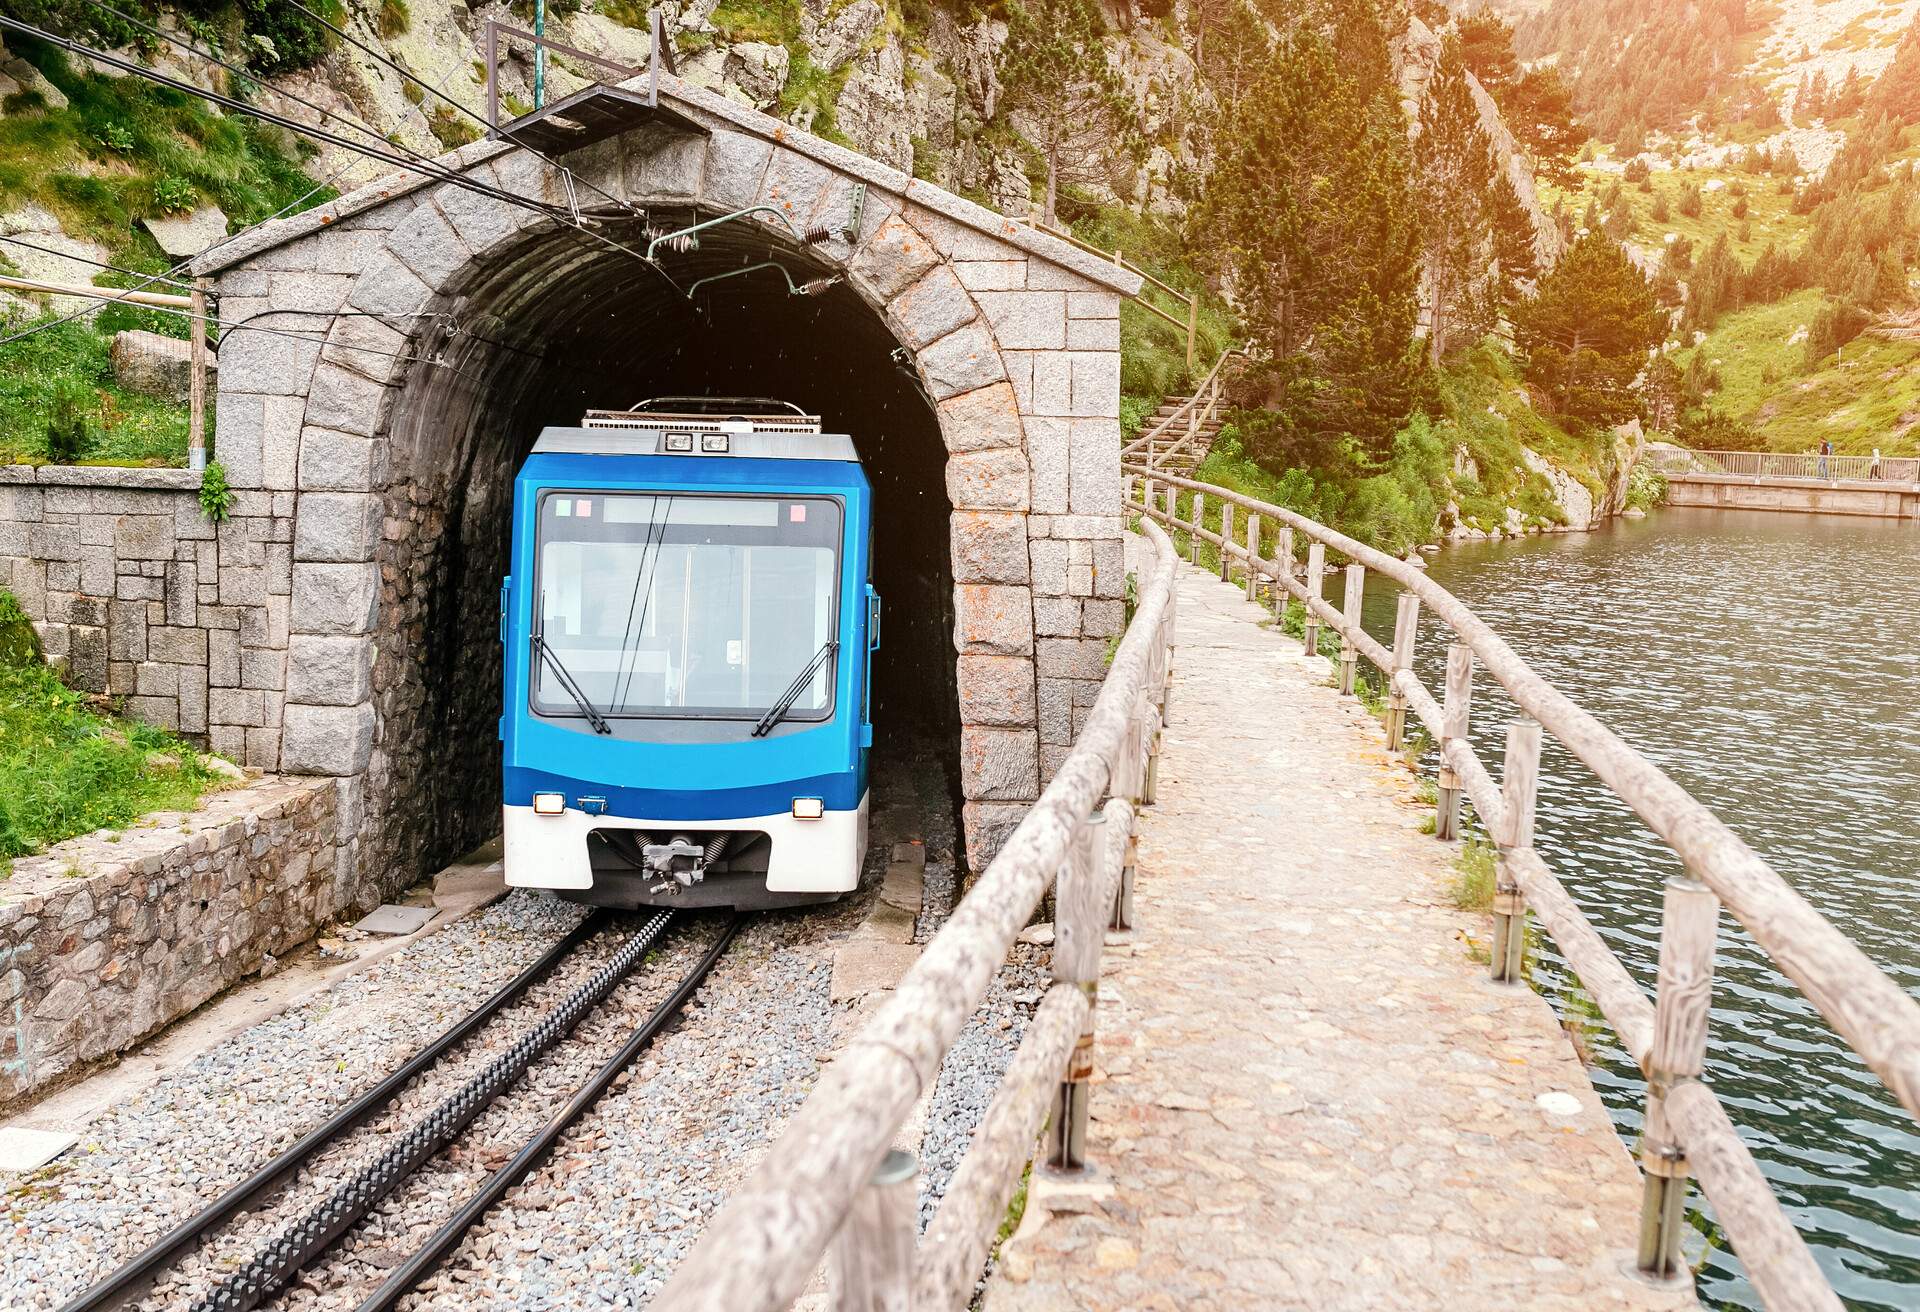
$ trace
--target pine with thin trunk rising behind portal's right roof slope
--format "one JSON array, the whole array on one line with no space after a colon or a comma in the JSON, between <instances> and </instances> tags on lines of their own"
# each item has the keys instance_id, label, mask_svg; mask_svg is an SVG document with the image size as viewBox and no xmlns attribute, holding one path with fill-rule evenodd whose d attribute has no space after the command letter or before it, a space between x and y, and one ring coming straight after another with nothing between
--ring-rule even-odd
<instances>
[{"instance_id":1,"label":"pine with thin trunk rising behind portal's right roof slope","mask_svg":"<svg viewBox=\"0 0 1920 1312\"><path fill-rule=\"evenodd\" d=\"M1004 111L1046 165L1041 221L1058 221L1060 188L1114 167L1133 146L1133 115L1106 61L1094 0L1010 0L1000 52Z\"/></svg>"}]
</instances>

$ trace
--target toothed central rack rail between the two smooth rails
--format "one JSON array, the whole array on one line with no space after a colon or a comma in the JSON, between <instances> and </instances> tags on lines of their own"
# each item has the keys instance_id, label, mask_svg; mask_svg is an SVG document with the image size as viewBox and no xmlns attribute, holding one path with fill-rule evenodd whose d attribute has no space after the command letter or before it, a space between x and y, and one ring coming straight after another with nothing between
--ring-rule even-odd
<instances>
[{"instance_id":1,"label":"toothed central rack rail between the two smooth rails","mask_svg":"<svg viewBox=\"0 0 1920 1312\"><path fill-rule=\"evenodd\" d=\"M607 995L645 959L672 918L670 911L655 912L605 966L568 993L540 1024L401 1133L380 1156L349 1176L324 1203L282 1229L246 1266L221 1281L211 1295L192 1304L192 1312L250 1312L278 1293L334 1239L351 1229L407 1176L465 1130L493 1099L513 1087L536 1058L572 1033L589 1010L607 1001Z\"/></svg>"}]
</instances>

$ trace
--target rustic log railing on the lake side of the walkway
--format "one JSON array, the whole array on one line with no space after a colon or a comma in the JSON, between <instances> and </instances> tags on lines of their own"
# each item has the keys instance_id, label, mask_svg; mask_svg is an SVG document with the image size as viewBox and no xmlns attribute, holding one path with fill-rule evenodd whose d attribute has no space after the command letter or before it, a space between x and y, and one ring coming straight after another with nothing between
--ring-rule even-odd
<instances>
[{"instance_id":1,"label":"rustic log railing on the lake side of the walkway","mask_svg":"<svg viewBox=\"0 0 1920 1312\"><path fill-rule=\"evenodd\" d=\"M1645 1172L1638 1254L1642 1270L1659 1276L1678 1272L1680 1220L1692 1176L1713 1201L1745 1264L1747 1279L1768 1308L1837 1312L1841 1302L1807 1243L1782 1212L1718 1097L1701 1083L1718 909L1724 905L1747 928L1914 1116L1920 1116L1920 1003L1882 974L1707 807L1548 684L1500 634L1419 567L1227 488L1167 476L1144 465L1127 465L1127 501L1142 511L1144 522L1187 532L1194 559L1198 544L1210 542L1219 547L1221 578L1229 578L1238 563L1250 597L1260 584L1267 584L1269 590L1279 590L1277 597L1298 599L1306 607L1308 651L1319 649L1319 626L1332 628L1342 642L1340 686L1346 692L1354 688L1359 657L1386 674L1386 730L1392 747L1400 745L1409 709L1436 736L1436 832L1442 838L1457 832L1459 799L1465 795L1498 847L1492 976L1523 982L1523 926L1532 911L1647 1078L1647 1116L1640 1139ZM1142 480L1139 499L1131 486L1135 476ZM1192 494L1187 519L1179 515L1179 492ZM1208 501L1221 511L1219 532L1206 528ZM1238 540L1235 511L1244 515ZM1296 534L1308 542L1304 578L1298 571ZM1321 595L1327 549L1352 561L1346 565L1340 609ZM1373 640L1359 622L1367 571L1384 574L1402 588L1392 649ZM1421 605L1432 609L1455 634L1448 647L1442 701L1413 674ZM1507 726L1500 784L1494 784L1467 741L1476 661L1523 713ZM1632 807L1686 866L1665 889L1653 1001L1534 851L1534 782L1542 730L1553 734Z\"/></svg>"}]
</instances>

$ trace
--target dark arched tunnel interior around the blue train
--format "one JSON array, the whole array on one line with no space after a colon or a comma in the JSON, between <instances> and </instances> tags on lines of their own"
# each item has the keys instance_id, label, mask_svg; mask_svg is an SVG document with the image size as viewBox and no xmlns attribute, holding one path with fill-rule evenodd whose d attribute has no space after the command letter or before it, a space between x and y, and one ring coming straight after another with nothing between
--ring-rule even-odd
<instances>
[{"instance_id":1,"label":"dark arched tunnel interior around the blue train","mask_svg":"<svg viewBox=\"0 0 1920 1312\"><path fill-rule=\"evenodd\" d=\"M691 209L649 215L655 229ZM645 250L645 232L609 225ZM795 282L831 267L764 223L701 234L699 250L634 255L534 229L474 267L422 319L388 419L388 532L372 778L386 797L384 861L436 870L499 828L499 582L513 476L549 425L651 396L768 396L852 436L874 484L874 768L931 753L958 780L950 507L939 421L885 321L845 282L793 296L776 269L699 288L764 259ZM397 524L403 526L396 528Z\"/></svg>"}]
</instances>

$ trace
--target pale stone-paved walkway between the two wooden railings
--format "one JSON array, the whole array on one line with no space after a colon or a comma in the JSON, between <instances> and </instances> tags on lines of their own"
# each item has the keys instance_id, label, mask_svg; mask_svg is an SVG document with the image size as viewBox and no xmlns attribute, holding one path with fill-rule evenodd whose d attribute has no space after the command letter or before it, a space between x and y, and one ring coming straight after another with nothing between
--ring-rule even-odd
<instances>
[{"instance_id":1,"label":"pale stone-paved walkway between the two wooden railings","mask_svg":"<svg viewBox=\"0 0 1920 1312\"><path fill-rule=\"evenodd\" d=\"M1546 1001L1484 980L1453 847L1329 665L1183 567L1092 1185L1035 1176L987 1312L1688 1308Z\"/></svg>"}]
</instances>

